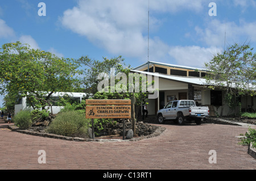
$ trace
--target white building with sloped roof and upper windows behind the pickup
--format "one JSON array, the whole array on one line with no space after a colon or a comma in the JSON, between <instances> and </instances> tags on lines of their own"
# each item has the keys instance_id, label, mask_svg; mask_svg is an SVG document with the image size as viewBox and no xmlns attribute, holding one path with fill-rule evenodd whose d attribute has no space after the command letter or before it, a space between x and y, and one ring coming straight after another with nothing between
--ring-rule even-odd
<instances>
[{"instance_id":1,"label":"white building with sloped roof and upper windows behind the pickup","mask_svg":"<svg viewBox=\"0 0 256 181\"><path fill-rule=\"evenodd\" d=\"M148 99L148 115L155 115L159 109L162 109L174 98L177 100L195 100L199 105L209 106L212 109L210 111L217 112L220 115L222 103L224 102L224 92L207 89L208 83L204 77L208 70L154 61L149 61L148 63L131 70L132 73L150 74L159 77L158 98ZM241 104L242 111L245 111L248 105L253 106L255 110L256 97L243 96ZM224 107L224 115L232 113L234 113L234 110L230 110L228 106Z\"/></svg>"}]
</instances>

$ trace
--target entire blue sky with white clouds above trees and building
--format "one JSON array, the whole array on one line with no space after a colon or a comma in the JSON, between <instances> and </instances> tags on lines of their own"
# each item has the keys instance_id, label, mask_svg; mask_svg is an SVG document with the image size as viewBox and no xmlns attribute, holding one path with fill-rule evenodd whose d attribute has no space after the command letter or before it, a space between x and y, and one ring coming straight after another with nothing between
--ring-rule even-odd
<instances>
[{"instance_id":1,"label":"entire blue sky with white clouds above trees and building","mask_svg":"<svg viewBox=\"0 0 256 181\"><path fill-rule=\"evenodd\" d=\"M39 16L38 4L46 4ZM209 3L216 16L209 16ZM147 62L148 0L9 0L0 4L0 44L22 41L65 58ZM226 45L256 48L256 1L150 0L149 59L204 67Z\"/></svg>"}]
</instances>

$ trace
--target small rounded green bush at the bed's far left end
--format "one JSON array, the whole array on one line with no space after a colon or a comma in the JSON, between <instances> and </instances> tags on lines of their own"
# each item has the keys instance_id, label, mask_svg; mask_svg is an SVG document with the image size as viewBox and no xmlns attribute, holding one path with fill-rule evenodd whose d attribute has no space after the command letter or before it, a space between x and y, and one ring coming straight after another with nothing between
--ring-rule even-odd
<instances>
[{"instance_id":1,"label":"small rounded green bush at the bed's far left end","mask_svg":"<svg viewBox=\"0 0 256 181\"><path fill-rule=\"evenodd\" d=\"M14 124L22 129L30 128L32 125L31 113L28 110L18 112L13 117Z\"/></svg>"}]
</instances>

